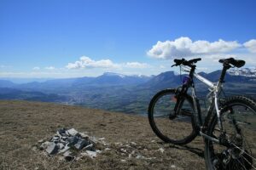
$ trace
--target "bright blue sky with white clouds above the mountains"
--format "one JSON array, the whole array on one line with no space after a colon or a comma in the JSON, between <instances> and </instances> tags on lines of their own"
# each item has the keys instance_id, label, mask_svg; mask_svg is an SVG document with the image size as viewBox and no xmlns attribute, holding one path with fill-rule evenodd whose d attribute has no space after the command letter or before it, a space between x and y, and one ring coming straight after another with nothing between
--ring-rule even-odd
<instances>
[{"instance_id":1,"label":"bright blue sky with white clouds above the mountains","mask_svg":"<svg viewBox=\"0 0 256 170\"><path fill-rule=\"evenodd\" d=\"M0 77L152 75L172 59L256 65L256 1L0 0Z\"/></svg>"}]
</instances>

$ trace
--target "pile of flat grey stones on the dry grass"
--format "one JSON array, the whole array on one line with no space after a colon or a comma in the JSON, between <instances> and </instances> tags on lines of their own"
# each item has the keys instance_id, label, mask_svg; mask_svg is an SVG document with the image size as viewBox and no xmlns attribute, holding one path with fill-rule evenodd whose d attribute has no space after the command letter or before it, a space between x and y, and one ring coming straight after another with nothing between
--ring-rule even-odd
<instances>
[{"instance_id":1,"label":"pile of flat grey stones on the dry grass","mask_svg":"<svg viewBox=\"0 0 256 170\"><path fill-rule=\"evenodd\" d=\"M59 155L65 161L73 161L79 155L96 157L101 150L96 150L97 140L86 133L79 133L74 128L61 128L49 141L39 140L39 149L49 156Z\"/></svg>"}]
</instances>

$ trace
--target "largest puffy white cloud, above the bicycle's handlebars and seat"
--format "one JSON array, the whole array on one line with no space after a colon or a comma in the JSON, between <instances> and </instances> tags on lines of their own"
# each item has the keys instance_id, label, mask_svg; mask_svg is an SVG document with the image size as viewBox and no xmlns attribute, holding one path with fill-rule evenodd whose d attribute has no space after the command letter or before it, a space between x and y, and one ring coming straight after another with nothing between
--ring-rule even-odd
<instances>
[{"instance_id":1,"label":"largest puffy white cloud, above the bicycle's handlebars and seat","mask_svg":"<svg viewBox=\"0 0 256 170\"><path fill-rule=\"evenodd\" d=\"M218 54L230 52L241 47L236 41L226 42L219 39L217 42L199 40L193 42L189 37L179 37L174 41L157 42L147 54L157 59L172 59L174 57L187 57L197 54Z\"/></svg>"}]
</instances>

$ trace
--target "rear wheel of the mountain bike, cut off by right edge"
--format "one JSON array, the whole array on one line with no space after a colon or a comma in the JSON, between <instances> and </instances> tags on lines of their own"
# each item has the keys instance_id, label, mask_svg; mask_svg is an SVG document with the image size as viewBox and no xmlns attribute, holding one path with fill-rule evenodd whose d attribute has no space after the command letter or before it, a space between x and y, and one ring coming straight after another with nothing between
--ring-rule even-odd
<instances>
[{"instance_id":1,"label":"rear wheel of the mountain bike, cut off by right edge","mask_svg":"<svg viewBox=\"0 0 256 170\"><path fill-rule=\"evenodd\" d=\"M220 136L217 116L212 117L207 134L225 139L228 146L205 139L207 169L256 169L256 104L253 99L227 99L221 112L224 136Z\"/></svg>"}]
</instances>

